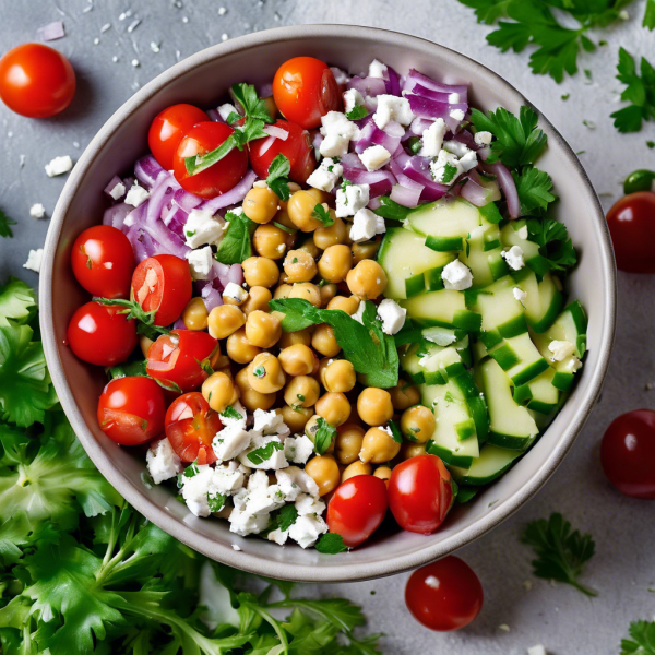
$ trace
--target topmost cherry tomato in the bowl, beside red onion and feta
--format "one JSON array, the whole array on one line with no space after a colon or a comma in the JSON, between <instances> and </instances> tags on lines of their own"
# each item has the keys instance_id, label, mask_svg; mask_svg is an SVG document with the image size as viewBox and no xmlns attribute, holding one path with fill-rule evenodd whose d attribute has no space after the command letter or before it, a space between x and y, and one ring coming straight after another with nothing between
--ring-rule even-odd
<instances>
[{"instance_id":1,"label":"topmost cherry tomato in the bowl, beside red onion and feta","mask_svg":"<svg viewBox=\"0 0 655 655\"><path fill-rule=\"evenodd\" d=\"M320 127L327 111L343 108L334 73L313 57L294 57L277 69L273 98L286 119L306 130Z\"/></svg>"}]
</instances>

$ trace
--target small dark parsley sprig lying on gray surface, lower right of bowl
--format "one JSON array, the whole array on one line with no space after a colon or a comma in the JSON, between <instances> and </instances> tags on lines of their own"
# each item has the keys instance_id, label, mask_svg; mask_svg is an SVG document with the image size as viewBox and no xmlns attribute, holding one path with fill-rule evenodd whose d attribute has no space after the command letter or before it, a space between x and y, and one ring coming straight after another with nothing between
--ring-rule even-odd
<instances>
[{"instance_id":1,"label":"small dark parsley sprig lying on gray surface, lower right of bowl","mask_svg":"<svg viewBox=\"0 0 655 655\"><path fill-rule=\"evenodd\" d=\"M591 535L571 532L571 524L561 514L555 513L548 521L541 519L528 523L521 540L532 546L537 556L532 562L537 577L570 584L587 596L597 595L577 580L584 564L594 555L595 544Z\"/></svg>"}]
</instances>

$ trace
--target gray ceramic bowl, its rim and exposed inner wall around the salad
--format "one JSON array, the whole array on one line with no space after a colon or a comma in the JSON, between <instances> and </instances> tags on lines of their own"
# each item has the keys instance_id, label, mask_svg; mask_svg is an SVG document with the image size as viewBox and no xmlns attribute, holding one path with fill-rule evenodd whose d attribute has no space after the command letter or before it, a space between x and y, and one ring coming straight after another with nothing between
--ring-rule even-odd
<instances>
[{"instance_id":1,"label":"gray ceramic bowl, its rim and exposed inner wall around the salad","mask_svg":"<svg viewBox=\"0 0 655 655\"><path fill-rule=\"evenodd\" d=\"M503 106L517 114L522 105L529 105L481 64L433 43L382 29L283 27L203 50L160 74L128 100L76 163L46 242L41 330L49 370L75 432L99 471L147 519L190 547L239 569L307 582L355 581L413 569L453 552L510 516L552 475L591 413L607 370L614 338L615 264L604 215L582 166L550 122L539 115L539 127L548 135L539 167L550 174L560 198L553 217L567 224L580 253L567 290L571 300L577 299L586 308L590 323L585 366L560 414L529 453L473 501L454 509L437 533L389 533L340 555L246 539L230 533L227 522L194 516L170 489L144 483L144 458L110 441L97 425L97 398L106 377L99 367L76 359L66 343L69 320L86 301L71 272L71 245L81 230L100 223L103 189L116 172L128 170L147 152L147 130L162 109L175 103L214 107L230 84L270 82L282 62L299 55L317 57L350 73L366 70L377 58L400 73L416 68L445 83L469 83L471 104L484 110Z\"/></svg>"}]
</instances>

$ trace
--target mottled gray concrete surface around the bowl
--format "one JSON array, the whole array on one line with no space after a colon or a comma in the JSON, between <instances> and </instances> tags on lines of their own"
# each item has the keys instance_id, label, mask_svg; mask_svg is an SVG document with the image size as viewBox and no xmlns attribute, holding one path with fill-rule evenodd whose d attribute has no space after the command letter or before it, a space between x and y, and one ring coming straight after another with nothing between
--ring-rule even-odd
<instances>
[{"instance_id":1,"label":"mottled gray concrete surface around the bowl","mask_svg":"<svg viewBox=\"0 0 655 655\"><path fill-rule=\"evenodd\" d=\"M219 15L218 9L227 12ZM353 23L386 27L432 39L498 71L538 106L581 155L608 209L621 192L623 177L639 167L655 167L655 124L641 133L619 135L609 114L618 106L615 66L619 45L655 62L655 33L641 27L643 0L628 9L630 20L595 34L609 45L582 56L592 70L557 85L534 76L527 55L501 55L486 45L486 27L456 0L0 0L0 51L37 38L38 27L56 20L66 38L53 47L72 61L80 85L73 106L51 120L28 121L0 106L0 207L17 221L15 238L0 242L0 279L15 274L37 285L22 269L31 248L41 247L48 221L29 217L43 202L52 212L64 177L49 179L44 165L57 155L75 159L95 131L138 87L222 35L234 38L253 29L298 23ZM131 15L120 19L131 11ZM128 27L141 23L131 32ZM109 25L105 32L103 26ZM95 43L97 39L97 44ZM159 51L153 51L151 43ZM112 58L118 58L112 61ZM131 63L138 59L140 66ZM570 93L570 99L560 96ZM595 129L583 124L591 121ZM24 165L21 166L24 155ZM569 221L575 221L570 216ZM432 633L407 614L406 575L341 584L317 593L338 593L361 603L370 629L385 632L389 654L509 655L544 644L551 655L611 655L619 652L630 621L655 615L655 505L615 492L605 480L598 446L609 421L629 409L653 406L655 382L655 277L619 275L619 324L610 372L597 408L573 451L527 507L462 557L479 574L486 594L477 621L454 634ZM598 590L588 599L565 585L531 576L531 552L519 541L523 525L561 511L596 538L597 552L585 582ZM532 581L526 590L524 581ZM509 626L507 632L499 626Z\"/></svg>"}]
</instances>

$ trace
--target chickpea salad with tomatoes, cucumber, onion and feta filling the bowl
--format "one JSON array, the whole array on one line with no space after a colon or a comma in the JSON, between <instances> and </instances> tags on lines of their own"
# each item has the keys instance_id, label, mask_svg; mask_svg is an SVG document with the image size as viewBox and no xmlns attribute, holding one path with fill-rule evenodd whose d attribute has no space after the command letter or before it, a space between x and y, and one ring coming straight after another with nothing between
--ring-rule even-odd
<instances>
[{"instance_id":1,"label":"chickpea salad with tomatoes, cucumber, onion and feta filling the bowl","mask_svg":"<svg viewBox=\"0 0 655 655\"><path fill-rule=\"evenodd\" d=\"M433 533L534 444L586 349L537 116L378 60L221 93L154 118L73 243L99 427L239 536L340 552L388 510Z\"/></svg>"}]
</instances>

